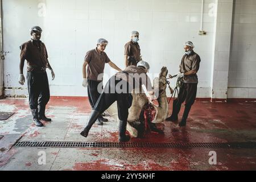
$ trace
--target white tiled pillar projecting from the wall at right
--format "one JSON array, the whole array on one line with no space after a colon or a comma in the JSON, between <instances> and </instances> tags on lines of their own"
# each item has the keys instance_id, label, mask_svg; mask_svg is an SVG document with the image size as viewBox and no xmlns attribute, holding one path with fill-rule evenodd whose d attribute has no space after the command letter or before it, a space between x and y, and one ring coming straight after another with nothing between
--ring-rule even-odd
<instances>
[{"instance_id":1,"label":"white tiled pillar projecting from the wall at right","mask_svg":"<svg viewBox=\"0 0 256 182\"><path fill-rule=\"evenodd\" d=\"M212 98L214 99L227 98L232 12L233 1L218 1L212 62Z\"/></svg>"}]
</instances>

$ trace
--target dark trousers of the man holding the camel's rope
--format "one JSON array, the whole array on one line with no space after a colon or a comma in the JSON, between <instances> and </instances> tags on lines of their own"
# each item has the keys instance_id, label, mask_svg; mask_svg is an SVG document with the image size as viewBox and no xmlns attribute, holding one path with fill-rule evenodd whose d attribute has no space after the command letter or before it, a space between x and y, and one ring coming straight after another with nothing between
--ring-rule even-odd
<instances>
[{"instance_id":1,"label":"dark trousers of the man holding the camel's rope","mask_svg":"<svg viewBox=\"0 0 256 182\"><path fill-rule=\"evenodd\" d=\"M186 84L181 82L179 95L174 100L174 105L172 109L172 116L177 117L180 112L181 104L185 101L185 110L183 113L183 120L186 121L188 118L191 106L195 103L197 93L197 84Z\"/></svg>"}]
</instances>

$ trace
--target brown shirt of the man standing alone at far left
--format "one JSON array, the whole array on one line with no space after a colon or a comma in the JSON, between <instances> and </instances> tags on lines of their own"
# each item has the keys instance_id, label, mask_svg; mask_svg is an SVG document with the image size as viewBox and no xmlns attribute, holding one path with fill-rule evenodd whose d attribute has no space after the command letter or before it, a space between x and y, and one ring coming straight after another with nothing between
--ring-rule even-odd
<instances>
[{"instance_id":1,"label":"brown shirt of the man standing alone at far left","mask_svg":"<svg viewBox=\"0 0 256 182\"><path fill-rule=\"evenodd\" d=\"M48 67L48 54L44 43L29 40L20 46L20 59L27 60L27 71L32 72Z\"/></svg>"}]
</instances>

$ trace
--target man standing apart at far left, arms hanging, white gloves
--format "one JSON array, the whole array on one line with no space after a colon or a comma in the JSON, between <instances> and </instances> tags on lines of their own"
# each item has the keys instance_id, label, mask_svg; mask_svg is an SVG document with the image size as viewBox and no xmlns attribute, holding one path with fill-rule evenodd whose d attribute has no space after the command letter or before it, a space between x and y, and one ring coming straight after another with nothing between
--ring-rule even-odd
<instances>
[{"instance_id":1,"label":"man standing apart at far left, arms hanging, white gloves","mask_svg":"<svg viewBox=\"0 0 256 182\"><path fill-rule=\"evenodd\" d=\"M52 80L55 78L53 69L48 61L46 46L40 41L42 28L35 26L30 29L31 40L20 46L19 84L24 85L24 61L27 60L27 85L30 109L35 125L42 127L40 120L50 122L45 115L49 101L49 83L46 68L51 70Z\"/></svg>"}]
</instances>

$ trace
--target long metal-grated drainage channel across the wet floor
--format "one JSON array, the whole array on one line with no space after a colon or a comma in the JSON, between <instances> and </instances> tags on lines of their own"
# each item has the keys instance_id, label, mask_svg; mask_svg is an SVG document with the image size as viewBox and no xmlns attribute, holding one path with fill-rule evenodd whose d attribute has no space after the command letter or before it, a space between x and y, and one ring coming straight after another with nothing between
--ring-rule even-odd
<instances>
[{"instance_id":1,"label":"long metal-grated drainage channel across the wet floor","mask_svg":"<svg viewBox=\"0 0 256 182\"><path fill-rule=\"evenodd\" d=\"M256 142L234 143L119 143L119 142L17 142L14 147L44 148L256 148Z\"/></svg>"}]
</instances>

